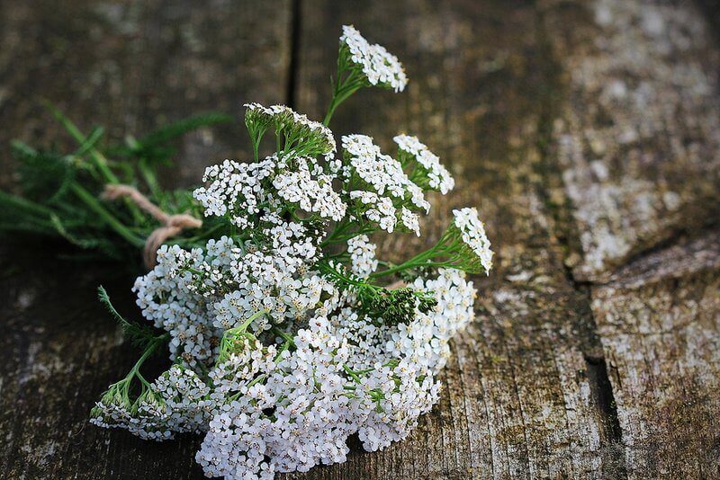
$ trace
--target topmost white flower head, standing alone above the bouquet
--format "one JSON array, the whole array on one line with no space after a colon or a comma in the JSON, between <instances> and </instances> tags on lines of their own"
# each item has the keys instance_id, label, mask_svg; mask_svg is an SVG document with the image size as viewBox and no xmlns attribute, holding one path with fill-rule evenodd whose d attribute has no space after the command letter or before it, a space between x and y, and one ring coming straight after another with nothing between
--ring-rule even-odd
<instances>
[{"instance_id":1,"label":"topmost white flower head, standing alone above the bouquet","mask_svg":"<svg viewBox=\"0 0 720 480\"><path fill-rule=\"evenodd\" d=\"M402 92L408 77L397 57L382 45L371 45L352 25L343 25L340 42L347 45L350 60L362 69L370 84L392 88Z\"/></svg>"}]
</instances>

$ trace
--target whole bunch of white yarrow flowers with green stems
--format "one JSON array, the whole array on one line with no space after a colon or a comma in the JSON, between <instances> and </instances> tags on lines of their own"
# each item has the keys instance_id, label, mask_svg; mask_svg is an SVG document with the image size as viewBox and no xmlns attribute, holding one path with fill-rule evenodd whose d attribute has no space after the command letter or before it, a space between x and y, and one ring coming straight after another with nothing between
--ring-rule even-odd
<instances>
[{"instance_id":1,"label":"whole bunch of white yarrow flowers with green stems","mask_svg":"<svg viewBox=\"0 0 720 480\"><path fill-rule=\"evenodd\" d=\"M196 460L205 474L243 479L343 462L351 435L374 451L409 434L437 403L449 340L473 319L466 273L491 271L492 252L477 210L465 208L407 262L375 256L371 236L420 236L426 194L444 195L455 181L409 135L394 138L395 156L362 134L339 138L338 152L329 122L358 89L400 92L407 81L397 58L345 26L324 121L248 103L254 157L209 166L201 187L173 197L184 200L160 191L147 164L139 166L149 198L120 189L87 142L76 157L91 152L93 178L125 201L69 182L68 205L101 214L99 226L66 227L65 206L4 197L16 209L36 206L36 222L67 238L110 231L153 247L152 268L133 287L147 324L122 318L101 289L143 352L95 404L92 423L150 440L202 433ZM261 156L268 143L273 152ZM202 227L180 222L181 211L202 216ZM153 221L161 234L143 230ZM100 246L85 240L76 243ZM150 381L142 366L164 350L171 366Z\"/></svg>"}]
</instances>

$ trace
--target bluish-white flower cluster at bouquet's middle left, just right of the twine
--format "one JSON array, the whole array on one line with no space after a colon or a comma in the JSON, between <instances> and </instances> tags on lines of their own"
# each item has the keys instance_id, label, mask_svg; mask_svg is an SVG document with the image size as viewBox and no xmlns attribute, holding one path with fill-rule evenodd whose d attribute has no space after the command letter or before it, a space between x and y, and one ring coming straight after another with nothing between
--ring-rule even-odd
<instances>
[{"instance_id":1,"label":"bluish-white flower cluster at bouquet's middle left, just right of the twine","mask_svg":"<svg viewBox=\"0 0 720 480\"><path fill-rule=\"evenodd\" d=\"M262 332L273 324L302 319L337 289L311 271L317 260L317 238L299 223L268 216L265 235L272 248L263 253L252 244L236 245L223 236L207 249L188 252L177 245L157 251L157 266L139 277L134 290L142 315L170 333L170 357L195 367L211 363L220 337L247 317L266 310L249 325Z\"/></svg>"}]
</instances>

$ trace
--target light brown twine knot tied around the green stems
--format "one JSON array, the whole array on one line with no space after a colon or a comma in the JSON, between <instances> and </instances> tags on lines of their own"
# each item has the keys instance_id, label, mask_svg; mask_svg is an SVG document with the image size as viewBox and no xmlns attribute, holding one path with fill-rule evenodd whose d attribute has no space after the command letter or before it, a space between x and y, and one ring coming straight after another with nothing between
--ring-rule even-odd
<instances>
[{"instance_id":1,"label":"light brown twine knot tied around the green stems","mask_svg":"<svg viewBox=\"0 0 720 480\"><path fill-rule=\"evenodd\" d=\"M153 230L145 240L142 260L148 269L152 269L157 264L157 249L160 248L160 245L164 244L168 238L176 236L185 228L202 227L202 220L194 218L192 215L167 214L148 200L148 197L140 193L135 187L119 183L108 183L105 185L102 195L104 200L117 200L123 197L132 201L139 209L148 212L150 216L162 224Z\"/></svg>"}]
</instances>

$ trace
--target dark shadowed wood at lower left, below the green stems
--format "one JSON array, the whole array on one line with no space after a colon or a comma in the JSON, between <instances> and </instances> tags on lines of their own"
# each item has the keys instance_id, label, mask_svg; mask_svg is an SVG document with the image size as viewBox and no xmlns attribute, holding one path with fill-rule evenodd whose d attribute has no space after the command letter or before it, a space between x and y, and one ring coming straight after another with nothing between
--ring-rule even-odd
<instances>
[{"instance_id":1,"label":"dark shadowed wood at lower left, below the green stems","mask_svg":"<svg viewBox=\"0 0 720 480\"><path fill-rule=\"evenodd\" d=\"M9 252L3 246L3 257ZM155 443L87 422L97 396L137 359L97 302L103 282L133 313L130 275L56 259L35 242L2 264L0 476L182 478L199 473L190 438ZM109 267L115 269L117 267ZM40 274L41 269L42 274ZM157 364L162 363L158 359Z\"/></svg>"}]
</instances>

